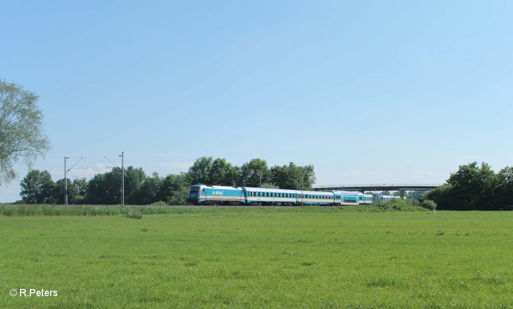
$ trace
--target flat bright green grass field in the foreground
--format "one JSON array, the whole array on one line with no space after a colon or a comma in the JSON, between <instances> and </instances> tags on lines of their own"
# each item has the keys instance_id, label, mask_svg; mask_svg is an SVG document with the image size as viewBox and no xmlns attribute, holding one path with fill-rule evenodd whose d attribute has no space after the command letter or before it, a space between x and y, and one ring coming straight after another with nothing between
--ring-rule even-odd
<instances>
[{"instance_id":1,"label":"flat bright green grass field in the foreground","mask_svg":"<svg viewBox=\"0 0 513 309\"><path fill-rule=\"evenodd\" d=\"M0 216L0 308L513 308L513 212L360 210Z\"/></svg>"}]
</instances>

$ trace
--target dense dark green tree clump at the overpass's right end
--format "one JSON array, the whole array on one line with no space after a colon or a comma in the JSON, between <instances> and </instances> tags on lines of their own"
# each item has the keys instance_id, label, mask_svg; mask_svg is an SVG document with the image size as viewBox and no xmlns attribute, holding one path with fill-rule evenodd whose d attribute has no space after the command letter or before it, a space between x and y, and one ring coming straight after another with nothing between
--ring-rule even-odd
<instances>
[{"instance_id":1,"label":"dense dark green tree clump at the overpass's right end","mask_svg":"<svg viewBox=\"0 0 513 309\"><path fill-rule=\"evenodd\" d=\"M443 186L422 199L435 201L439 210L497 210L513 205L513 167L496 173L485 162L461 165Z\"/></svg>"}]
</instances>

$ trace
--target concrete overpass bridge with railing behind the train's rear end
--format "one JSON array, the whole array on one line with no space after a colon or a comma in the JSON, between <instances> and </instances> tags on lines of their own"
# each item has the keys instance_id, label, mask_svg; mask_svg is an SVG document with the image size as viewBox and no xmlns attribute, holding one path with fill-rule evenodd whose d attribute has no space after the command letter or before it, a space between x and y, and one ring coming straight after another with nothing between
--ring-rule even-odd
<instances>
[{"instance_id":1,"label":"concrete overpass bridge with railing behind the train's rear end","mask_svg":"<svg viewBox=\"0 0 513 309\"><path fill-rule=\"evenodd\" d=\"M404 197L404 191L427 191L442 186L443 183L367 183L367 184L328 184L314 186L314 191L343 190L343 191L399 191Z\"/></svg>"}]
</instances>

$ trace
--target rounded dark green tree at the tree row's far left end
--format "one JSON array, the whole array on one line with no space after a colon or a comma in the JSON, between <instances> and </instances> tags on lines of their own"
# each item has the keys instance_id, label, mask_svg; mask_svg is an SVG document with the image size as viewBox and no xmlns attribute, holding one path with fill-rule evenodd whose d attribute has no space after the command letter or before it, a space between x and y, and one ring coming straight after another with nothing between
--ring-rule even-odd
<instances>
[{"instance_id":1,"label":"rounded dark green tree at the tree row's far left end","mask_svg":"<svg viewBox=\"0 0 513 309\"><path fill-rule=\"evenodd\" d=\"M19 183L19 195L27 204L54 203L55 183L48 171L31 170Z\"/></svg>"}]
</instances>

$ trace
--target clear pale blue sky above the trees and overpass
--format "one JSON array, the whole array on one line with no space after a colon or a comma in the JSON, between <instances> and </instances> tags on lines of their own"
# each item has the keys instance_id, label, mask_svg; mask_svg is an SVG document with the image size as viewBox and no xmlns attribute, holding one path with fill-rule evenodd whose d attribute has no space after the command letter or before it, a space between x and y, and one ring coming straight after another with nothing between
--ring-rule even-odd
<instances>
[{"instance_id":1,"label":"clear pale blue sky above the trees and overpass","mask_svg":"<svg viewBox=\"0 0 513 309\"><path fill-rule=\"evenodd\" d=\"M511 1L11 1L0 78L40 96L54 180L202 156L317 185L513 165ZM108 161L107 157L110 161ZM114 164L115 165L114 165ZM0 201L20 199L18 178Z\"/></svg>"}]
</instances>

